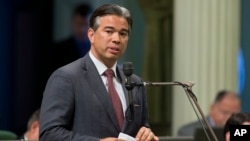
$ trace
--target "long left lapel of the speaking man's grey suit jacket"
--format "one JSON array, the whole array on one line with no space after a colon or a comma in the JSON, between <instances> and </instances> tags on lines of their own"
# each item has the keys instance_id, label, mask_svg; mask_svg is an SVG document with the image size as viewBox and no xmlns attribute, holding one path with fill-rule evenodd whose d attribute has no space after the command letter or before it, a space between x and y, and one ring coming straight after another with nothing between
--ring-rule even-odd
<instances>
[{"instance_id":1,"label":"long left lapel of the speaking man's grey suit jacket","mask_svg":"<svg viewBox=\"0 0 250 141\"><path fill-rule=\"evenodd\" d=\"M84 61L82 63L82 68L86 71L86 81L89 82L90 87L92 88L93 94L97 96L103 109L107 112L107 115L110 117L112 123L117 130L119 130L118 121L115 118L115 113L113 110L113 106L111 100L109 99L108 92L103 84L101 77L93 63L90 59L89 55L87 54L84 57Z\"/></svg>"}]
</instances>

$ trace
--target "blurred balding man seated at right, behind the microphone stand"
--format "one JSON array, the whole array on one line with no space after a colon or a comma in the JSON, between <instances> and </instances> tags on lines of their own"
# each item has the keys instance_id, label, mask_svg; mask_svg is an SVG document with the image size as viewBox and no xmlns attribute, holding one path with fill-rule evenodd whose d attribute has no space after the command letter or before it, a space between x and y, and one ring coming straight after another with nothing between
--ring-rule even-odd
<instances>
[{"instance_id":1,"label":"blurred balding man seated at right, behind the microphone stand","mask_svg":"<svg viewBox=\"0 0 250 141\"><path fill-rule=\"evenodd\" d=\"M240 112L240 107L240 99L235 92L219 91L206 119L211 127L222 128L231 114ZM199 121L188 123L179 129L178 136L194 136L195 130L201 127Z\"/></svg>"}]
</instances>

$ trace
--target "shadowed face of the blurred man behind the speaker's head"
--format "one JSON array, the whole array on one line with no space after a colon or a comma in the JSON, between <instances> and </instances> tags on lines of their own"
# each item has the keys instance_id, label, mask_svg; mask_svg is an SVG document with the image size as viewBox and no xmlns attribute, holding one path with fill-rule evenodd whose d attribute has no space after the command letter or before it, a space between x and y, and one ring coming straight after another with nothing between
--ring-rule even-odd
<instances>
[{"instance_id":1,"label":"shadowed face of the blurred man behind the speaker's head","mask_svg":"<svg viewBox=\"0 0 250 141\"><path fill-rule=\"evenodd\" d=\"M75 15L72 19L72 30L74 36L78 40L85 40L87 39L87 32L88 32L88 17L84 17L81 15Z\"/></svg>"}]
</instances>

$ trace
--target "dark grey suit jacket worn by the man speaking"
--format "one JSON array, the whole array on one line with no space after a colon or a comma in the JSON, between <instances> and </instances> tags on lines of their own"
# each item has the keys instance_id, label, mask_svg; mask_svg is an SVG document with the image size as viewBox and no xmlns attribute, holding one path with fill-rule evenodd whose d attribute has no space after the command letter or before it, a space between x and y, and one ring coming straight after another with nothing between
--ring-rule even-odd
<instances>
[{"instance_id":1,"label":"dark grey suit jacket worn by the man speaking","mask_svg":"<svg viewBox=\"0 0 250 141\"><path fill-rule=\"evenodd\" d=\"M117 68L128 105L125 76ZM135 75L132 82L141 82ZM148 127L144 87L134 87L134 120L124 120L122 132L135 136L139 128ZM58 70L49 78L40 114L40 141L99 141L118 137L119 126L112 103L89 55Z\"/></svg>"}]
</instances>

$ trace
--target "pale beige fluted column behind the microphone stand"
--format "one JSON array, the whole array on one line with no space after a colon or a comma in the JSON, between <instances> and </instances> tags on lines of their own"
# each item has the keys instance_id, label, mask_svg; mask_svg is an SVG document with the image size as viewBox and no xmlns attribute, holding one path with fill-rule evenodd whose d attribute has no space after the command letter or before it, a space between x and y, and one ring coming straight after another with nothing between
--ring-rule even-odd
<instances>
[{"instance_id":1,"label":"pale beige fluted column behind the microphone stand","mask_svg":"<svg viewBox=\"0 0 250 141\"><path fill-rule=\"evenodd\" d=\"M195 82L202 110L221 89L237 90L238 0L174 1L174 80ZM181 88L173 92L173 133L197 120Z\"/></svg>"}]
</instances>

